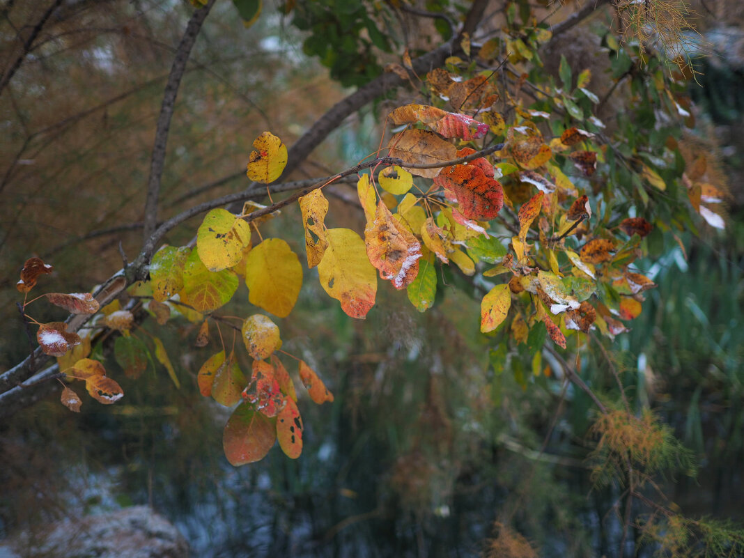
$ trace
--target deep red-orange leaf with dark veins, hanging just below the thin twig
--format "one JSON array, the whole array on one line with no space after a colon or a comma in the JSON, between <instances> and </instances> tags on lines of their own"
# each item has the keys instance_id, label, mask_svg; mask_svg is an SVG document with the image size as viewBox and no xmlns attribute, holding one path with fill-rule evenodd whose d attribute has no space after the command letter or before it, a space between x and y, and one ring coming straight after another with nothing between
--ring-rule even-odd
<instances>
[{"instance_id":1,"label":"deep red-orange leaf with dark veins, hanging just below the thin twig","mask_svg":"<svg viewBox=\"0 0 744 558\"><path fill-rule=\"evenodd\" d=\"M487 176L478 164L444 167L434 184L455 194L460 212L466 219L490 221L504 205L504 189L493 179L493 167L491 176Z\"/></svg>"}]
</instances>

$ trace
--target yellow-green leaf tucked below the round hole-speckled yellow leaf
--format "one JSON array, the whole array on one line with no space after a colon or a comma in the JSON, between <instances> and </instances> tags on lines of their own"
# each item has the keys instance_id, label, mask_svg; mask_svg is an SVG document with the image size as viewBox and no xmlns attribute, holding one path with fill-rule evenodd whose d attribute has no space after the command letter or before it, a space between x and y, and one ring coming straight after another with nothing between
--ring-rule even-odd
<instances>
[{"instance_id":1,"label":"yellow-green leaf tucked below the round hole-speckled yellow leaf","mask_svg":"<svg viewBox=\"0 0 744 558\"><path fill-rule=\"evenodd\" d=\"M183 272L181 300L197 312L211 312L227 304L238 286L238 278L229 269L210 272L192 250Z\"/></svg>"}]
</instances>

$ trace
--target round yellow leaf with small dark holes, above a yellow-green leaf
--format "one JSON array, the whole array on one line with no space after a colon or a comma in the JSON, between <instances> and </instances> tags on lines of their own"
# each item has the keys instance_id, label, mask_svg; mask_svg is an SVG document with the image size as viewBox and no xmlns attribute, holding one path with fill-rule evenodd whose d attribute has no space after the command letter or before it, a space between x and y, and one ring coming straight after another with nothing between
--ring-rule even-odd
<instances>
[{"instance_id":1,"label":"round yellow leaf with small dark holes, above a yellow-green leaf","mask_svg":"<svg viewBox=\"0 0 744 558\"><path fill-rule=\"evenodd\" d=\"M211 272L234 266L251 243L251 225L225 209L213 209L196 231L196 252Z\"/></svg>"}]
</instances>

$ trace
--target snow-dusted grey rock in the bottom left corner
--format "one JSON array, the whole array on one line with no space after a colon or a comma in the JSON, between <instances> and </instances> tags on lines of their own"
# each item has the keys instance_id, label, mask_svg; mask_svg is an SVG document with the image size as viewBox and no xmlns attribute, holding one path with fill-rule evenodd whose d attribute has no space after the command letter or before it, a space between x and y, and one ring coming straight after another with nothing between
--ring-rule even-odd
<instances>
[{"instance_id":1,"label":"snow-dusted grey rock in the bottom left corner","mask_svg":"<svg viewBox=\"0 0 744 558\"><path fill-rule=\"evenodd\" d=\"M0 546L7 558L187 558L188 543L147 506L52 524Z\"/></svg>"}]
</instances>

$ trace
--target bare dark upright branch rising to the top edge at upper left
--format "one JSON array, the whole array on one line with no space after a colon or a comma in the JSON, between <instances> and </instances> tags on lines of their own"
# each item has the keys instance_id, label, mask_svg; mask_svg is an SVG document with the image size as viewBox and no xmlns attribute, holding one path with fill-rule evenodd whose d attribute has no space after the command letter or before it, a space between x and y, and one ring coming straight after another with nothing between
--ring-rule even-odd
<instances>
[{"instance_id":1,"label":"bare dark upright branch rising to the top edge at upper left","mask_svg":"<svg viewBox=\"0 0 744 558\"><path fill-rule=\"evenodd\" d=\"M165 164L165 147L168 143L168 132L170 130L170 119L173 117L173 109L176 106L176 95L179 92L181 78L186 70L186 62L191 54L196 36L202 28L202 23L207 18L209 10L215 0L209 0L205 7L194 11L189 19L186 31L178 49L173 65L170 68L168 82L165 85L163 103L158 117L158 126L155 129L155 144L153 145L153 160L150 164L150 179L147 181L147 201L144 206L144 237L150 237L155 230L158 220L158 197L160 196L160 181L163 176Z\"/></svg>"}]
</instances>

